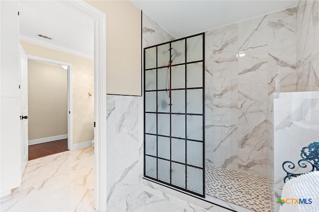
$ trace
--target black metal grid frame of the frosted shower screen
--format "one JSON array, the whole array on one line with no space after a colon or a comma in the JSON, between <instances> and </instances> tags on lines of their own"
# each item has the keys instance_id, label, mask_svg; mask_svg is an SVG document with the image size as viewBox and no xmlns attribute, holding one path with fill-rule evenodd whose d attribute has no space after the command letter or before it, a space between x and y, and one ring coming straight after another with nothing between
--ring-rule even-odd
<instances>
[{"instance_id":1,"label":"black metal grid frame of the frosted shower screen","mask_svg":"<svg viewBox=\"0 0 319 212\"><path fill-rule=\"evenodd\" d=\"M195 37L195 36L200 36L200 35L202 35L202 60L187 62L187 51L186 51L187 39L191 38L191 37ZM184 63L179 63L179 64L174 64L174 65L168 64L167 66L158 67L158 46L169 44L169 55L171 55L171 43L179 41L179 40L185 40L185 62ZM154 47L156 47L156 67L155 68L146 69L145 68L145 65L146 65L146 62L145 62L145 51L146 51L146 49L150 49L150 48L154 48ZM199 63L199 62L202 63L202 87L187 88L187 65L188 64L192 64L192 63ZM182 89L171 89L171 88L169 88L168 90L169 90L169 92L170 91L174 91L174 90L179 90L179 91L183 91L184 90L185 91L185 112L184 113L171 112L171 98L169 98L169 112L159 112L158 111L158 107L157 107L158 106L158 92L159 91L168 91L168 90L167 89L158 90L158 69L169 68L169 84L171 85L171 67L180 66L180 65L184 65L185 66L185 71L184 71L185 72L184 73L185 74L185 88L182 88ZM156 90L148 90L148 91L146 91L146 71L149 71L149 70L156 70ZM187 90L193 90L193 89L202 89L202 114L187 113L187 106L186 106L187 105L187 93L186 92L187 92ZM146 108L146 92L155 92L155 91L157 92L157 94L156 94L156 98L157 98L157 100L156 100L156 112L146 112L145 111L145 108ZM167 185L168 187L176 188L178 190L185 191L187 193L190 193L190 194L193 194L193 195L196 195L196 196L205 197L205 102L204 102L205 98L204 97L205 97L205 33L199 33L199 34L191 35L191 36L188 36L188 37L183 37L183 38L180 38L180 39L176 39L176 40L172 40L172 41L168 41L168 42L165 42L165 43L161 43L161 44L158 44L158 45L154 45L154 46L150 46L150 47L144 48L144 178L145 179L151 179L153 181L157 181L157 182L160 182L161 184ZM146 124L145 123L146 123L146 114L147 113L169 114L170 129L171 129L171 115L172 114L185 115L185 138L171 136L171 130L169 131L169 136L159 135L158 134L158 124L156 126L156 134L146 133ZM202 139L202 141L194 140L194 139L187 139L187 115L199 115L199 116L202 116L202 124L203 124L203 130L202 130L202 138L203 139ZM158 123L158 115L156 117L156 121ZM157 136L157 141L156 141L157 156L146 154L146 135L155 135L155 136ZM158 157L158 137L159 136L169 138L169 146L170 146L169 159ZM176 139L180 139L180 140L184 140L185 141L185 162L184 163L177 162L177 161L172 161L172 159L171 159L171 139L172 138L176 138ZM202 167L197 167L197 166L193 166L193 165L187 164L187 140L196 141L196 142L201 142L202 143L202 160L203 160ZM157 178L156 179L154 177L150 177L150 176L146 175L146 156L157 158ZM170 164L169 183L161 181L161 180L158 179L158 175L159 175L159 172L158 172L158 159L170 162L169 163ZM171 184L171 163L172 162L185 166L185 188L181 188L179 186ZM202 170L202 172L203 172L202 173L202 176L203 176L203 179L202 179L202 181L203 181L202 182L202 185L203 185L202 194L199 194L199 193L196 193L196 192L193 192L193 191L190 191L190 190L187 189L187 167L193 167L193 168Z\"/></svg>"}]
</instances>

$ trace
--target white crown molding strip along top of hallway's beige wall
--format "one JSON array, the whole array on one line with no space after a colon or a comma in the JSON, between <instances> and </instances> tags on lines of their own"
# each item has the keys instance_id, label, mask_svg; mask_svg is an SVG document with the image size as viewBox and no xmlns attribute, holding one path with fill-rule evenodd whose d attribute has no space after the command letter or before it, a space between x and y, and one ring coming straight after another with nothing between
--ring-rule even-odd
<instances>
[{"instance_id":1,"label":"white crown molding strip along top of hallway's beige wall","mask_svg":"<svg viewBox=\"0 0 319 212\"><path fill-rule=\"evenodd\" d=\"M76 50L73 50L73 49L69 49L69 48L66 48L66 47L63 47L63 46L59 46L59 45L56 45L56 44L48 43L48 42L45 42L45 41L30 37L30 36L27 36L27 35L20 34L20 40L28 42L28 43L36 44L36 45L39 45L39 46L47 47L47 48L50 48L50 49L54 49L54 50L57 50L57 51L62 51L62 52L73 54L73 55L77 55L77 56L80 56L80 57L85 57L85 58L88 58L88 59L91 59L91 60L94 59L94 55L86 54L86 53L83 53L83 52L80 52L80 51L76 51Z\"/></svg>"}]
</instances>

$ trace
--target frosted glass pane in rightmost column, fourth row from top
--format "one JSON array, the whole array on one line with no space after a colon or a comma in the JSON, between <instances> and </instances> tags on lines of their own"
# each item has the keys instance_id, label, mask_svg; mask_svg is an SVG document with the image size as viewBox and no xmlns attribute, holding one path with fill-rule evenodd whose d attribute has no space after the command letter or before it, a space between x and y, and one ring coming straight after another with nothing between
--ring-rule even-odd
<instances>
[{"instance_id":1,"label":"frosted glass pane in rightmost column, fourth row from top","mask_svg":"<svg viewBox=\"0 0 319 212\"><path fill-rule=\"evenodd\" d=\"M187 115L187 138L203 140L203 118L201 115Z\"/></svg>"}]
</instances>

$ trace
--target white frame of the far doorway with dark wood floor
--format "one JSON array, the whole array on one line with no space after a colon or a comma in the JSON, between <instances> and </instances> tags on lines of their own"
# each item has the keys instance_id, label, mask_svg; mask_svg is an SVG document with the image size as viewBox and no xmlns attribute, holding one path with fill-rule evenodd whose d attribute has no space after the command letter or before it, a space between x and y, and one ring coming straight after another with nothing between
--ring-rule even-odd
<instances>
[{"instance_id":1,"label":"white frame of the far doorway with dark wood floor","mask_svg":"<svg viewBox=\"0 0 319 212\"><path fill-rule=\"evenodd\" d=\"M68 81L68 106L67 106L67 111L68 111L68 150L72 149L73 146L73 100L72 100L72 64L71 63L65 63L57 60L51 60L47 59L44 57L38 57L34 55L26 55L28 60L35 60L39 62L44 62L44 63L51 63L55 65L61 65L61 66L67 66L67 81Z\"/></svg>"}]
</instances>

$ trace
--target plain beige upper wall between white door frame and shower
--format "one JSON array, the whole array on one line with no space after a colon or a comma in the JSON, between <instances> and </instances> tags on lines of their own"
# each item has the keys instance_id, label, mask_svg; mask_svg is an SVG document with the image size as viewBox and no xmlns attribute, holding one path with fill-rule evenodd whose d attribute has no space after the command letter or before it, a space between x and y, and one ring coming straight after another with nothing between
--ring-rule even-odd
<instances>
[{"instance_id":1,"label":"plain beige upper wall between white door frame and shower","mask_svg":"<svg viewBox=\"0 0 319 212\"><path fill-rule=\"evenodd\" d=\"M128 0L86 2L106 14L107 94L141 96L141 10Z\"/></svg>"}]
</instances>

